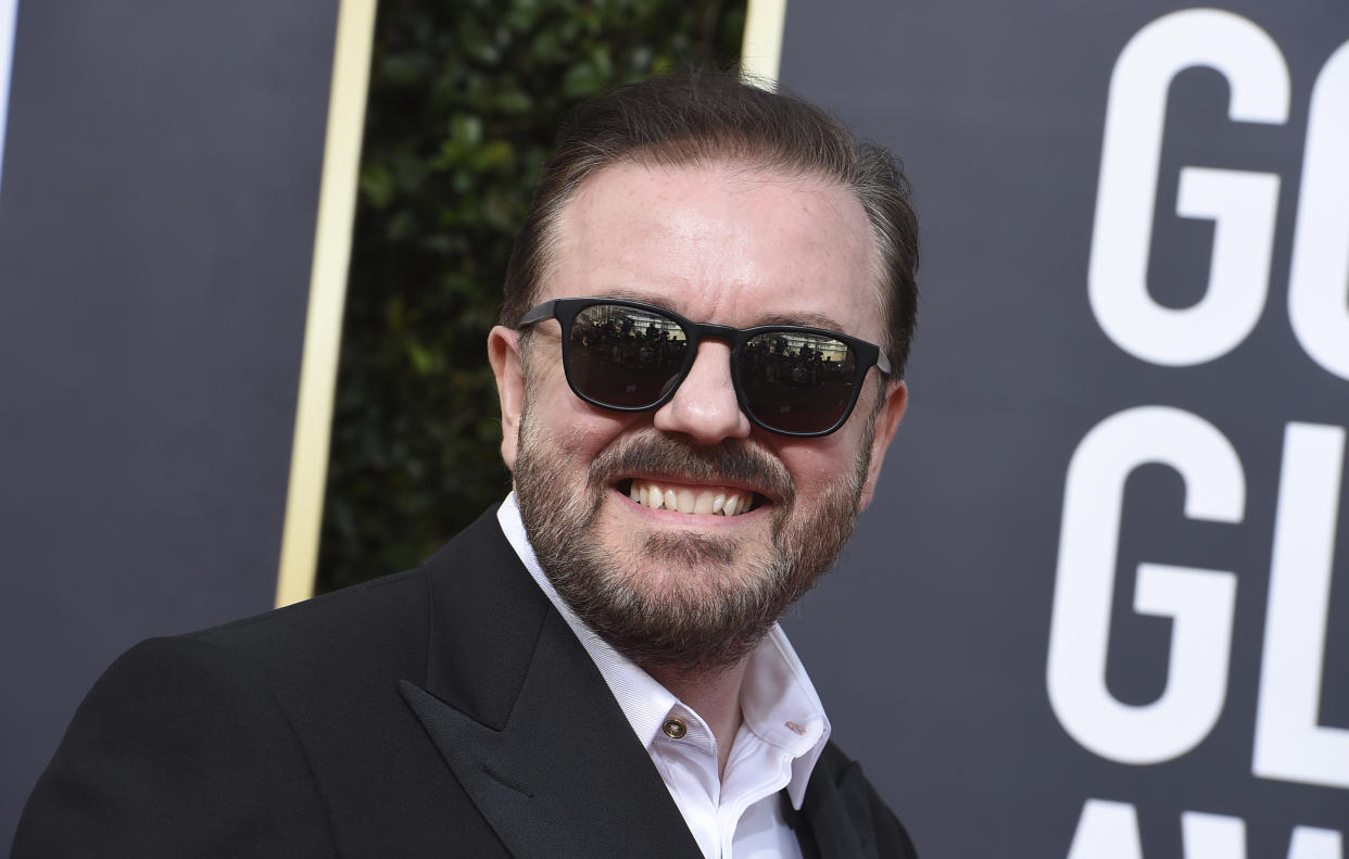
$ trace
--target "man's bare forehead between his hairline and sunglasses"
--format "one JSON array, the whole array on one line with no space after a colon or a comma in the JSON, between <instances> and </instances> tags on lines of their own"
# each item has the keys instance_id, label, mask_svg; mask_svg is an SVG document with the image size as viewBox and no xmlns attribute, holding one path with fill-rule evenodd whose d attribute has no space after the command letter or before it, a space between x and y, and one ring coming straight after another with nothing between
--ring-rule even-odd
<instances>
[{"instance_id":1,"label":"man's bare forehead between his hairline and sunglasses","mask_svg":"<svg viewBox=\"0 0 1349 859\"><path fill-rule=\"evenodd\" d=\"M880 341L878 251L846 187L735 163L621 163L564 208L541 299L623 295L704 322Z\"/></svg>"}]
</instances>

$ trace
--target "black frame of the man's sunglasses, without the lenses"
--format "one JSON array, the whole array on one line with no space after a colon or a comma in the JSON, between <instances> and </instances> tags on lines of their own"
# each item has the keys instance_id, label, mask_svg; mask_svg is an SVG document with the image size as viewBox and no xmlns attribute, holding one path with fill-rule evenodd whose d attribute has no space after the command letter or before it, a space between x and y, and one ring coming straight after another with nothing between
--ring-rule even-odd
<instances>
[{"instance_id":1,"label":"black frame of the man's sunglasses, without the lenses","mask_svg":"<svg viewBox=\"0 0 1349 859\"><path fill-rule=\"evenodd\" d=\"M674 376L674 383L662 394L657 401L643 405L643 406L615 406L612 403L606 403L588 396L581 391L576 382L572 379L572 363L571 363L571 336L572 336L572 322L581 310L587 307L594 307L598 305L616 305L619 307L633 307L635 310L642 310L654 316L665 317L674 322L684 330L685 341L689 348L684 356L684 365L680 367L679 374ZM871 367L876 367L882 376L890 375L890 359L885 355L881 347L874 343L867 343L865 340L858 340L849 334L839 332L832 332L826 328L809 328L804 325L758 325L755 328L733 328L730 325L712 325L710 322L693 322L673 310L660 307L657 305L648 305L639 301L627 301L622 298L553 298L545 301L537 307L530 309L525 316L519 318L517 329L522 329L534 322L541 322L544 320L557 320L563 326L563 372L567 375L567 384L572 388L576 396L581 398L592 406L599 406L600 409L610 409L612 411L652 411L660 409L668 403L674 392L679 391L679 386L684 384L684 379L688 378L688 371L693 367L693 361L697 359L697 347L703 338L708 340L723 340L731 344L731 387L735 390L735 399L741 406L741 411L750 423L765 429L770 433L777 433L778 436L791 436L795 438L817 438L820 436L828 436L836 432L840 426L847 423L847 419L853 415L853 409L857 406L857 399L862 392L862 383L866 379L866 374ZM854 371L855 376L853 379L853 394L839 415L828 429L815 430L808 433L784 430L778 429L770 423L765 423L759 419L749 406L749 399L745 395L745 386L741 380L741 349L745 348L754 337L761 337L764 334L772 333L788 333L788 334L815 334L820 337L828 337L831 340L838 340L846 345L853 355L857 357L857 368Z\"/></svg>"}]
</instances>

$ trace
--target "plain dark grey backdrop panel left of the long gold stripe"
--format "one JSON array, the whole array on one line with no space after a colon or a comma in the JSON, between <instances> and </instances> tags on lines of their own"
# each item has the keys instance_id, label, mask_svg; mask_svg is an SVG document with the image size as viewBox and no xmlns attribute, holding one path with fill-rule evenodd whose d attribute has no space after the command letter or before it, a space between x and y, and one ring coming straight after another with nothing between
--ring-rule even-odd
<instances>
[{"instance_id":1,"label":"plain dark grey backdrop panel left of the long gold stripe","mask_svg":"<svg viewBox=\"0 0 1349 859\"><path fill-rule=\"evenodd\" d=\"M117 653L272 604L336 15L19 3L0 193L5 848Z\"/></svg>"}]
</instances>

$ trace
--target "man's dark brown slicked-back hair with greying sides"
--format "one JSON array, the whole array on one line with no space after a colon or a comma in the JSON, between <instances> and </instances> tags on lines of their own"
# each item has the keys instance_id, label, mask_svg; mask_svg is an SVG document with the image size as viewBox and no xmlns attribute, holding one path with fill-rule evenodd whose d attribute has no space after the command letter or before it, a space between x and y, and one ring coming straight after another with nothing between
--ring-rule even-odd
<instances>
[{"instance_id":1,"label":"man's dark brown slicked-back hair with greying sides","mask_svg":"<svg viewBox=\"0 0 1349 859\"><path fill-rule=\"evenodd\" d=\"M885 348L904 375L917 322L919 235L909 182L894 155L859 140L796 96L726 71L685 71L619 88L576 107L544 165L506 268L500 324L537 301L558 216L581 183L614 163L743 162L819 177L853 191L880 248Z\"/></svg>"}]
</instances>

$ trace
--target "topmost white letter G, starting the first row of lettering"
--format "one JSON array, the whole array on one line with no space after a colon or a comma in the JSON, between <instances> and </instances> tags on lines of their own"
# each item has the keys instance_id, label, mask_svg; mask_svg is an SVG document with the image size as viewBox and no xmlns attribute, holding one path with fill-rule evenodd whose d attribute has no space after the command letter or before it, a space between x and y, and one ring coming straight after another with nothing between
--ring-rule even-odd
<instances>
[{"instance_id":1,"label":"topmost white letter G, starting the first row of lettering","mask_svg":"<svg viewBox=\"0 0 1349 859\"><path fill-rule=\"evenodd\" d=\"M1135 357L1179 367L1222 356L1264 310L1279 177L1184 167L1176 214L1215 221L1209 285L1191 307L1148 294L1148 248L1157 196L1167 90L1183 70L1207 66L1232 88L1233 121L1288 119L1288 66L1269 35L1240 15L1184 9L1140 30L1110 74L1087 294L1101 329Z\"/></svg>"}]
</instances>

